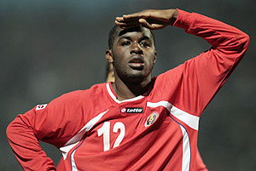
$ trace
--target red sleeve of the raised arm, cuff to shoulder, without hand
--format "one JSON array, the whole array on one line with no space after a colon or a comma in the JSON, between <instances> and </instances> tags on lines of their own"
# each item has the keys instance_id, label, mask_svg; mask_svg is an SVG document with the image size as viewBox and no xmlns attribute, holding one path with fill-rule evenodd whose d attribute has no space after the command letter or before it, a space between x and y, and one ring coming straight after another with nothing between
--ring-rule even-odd
<instances>
[{"instance_id":1,"label":"red sleeve of the raised arm, cuff to shoulder, without hand","mask_svg":"<svg viewBox=\"0 0 256 171\"><path fill-rule=\"evenodd\" d=\"M245 54L249 37L246 33L221 21L201 14L177 10L178 16L173 26L202 37L212 45L212 48L187 60L177 69L182 72L181 88L186 95L180 98L177 106L183 104L183 99L189 98L183 109L200 116Z\"/></svg>"}]
</instances>

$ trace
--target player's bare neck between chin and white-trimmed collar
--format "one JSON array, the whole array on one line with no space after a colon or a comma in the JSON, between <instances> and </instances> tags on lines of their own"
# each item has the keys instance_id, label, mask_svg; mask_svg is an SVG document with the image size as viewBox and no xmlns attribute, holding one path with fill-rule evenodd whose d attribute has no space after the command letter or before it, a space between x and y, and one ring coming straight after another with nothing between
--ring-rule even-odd
<instances>
[{"instance_id":1,"label":"player's bare neck between chin and white-trimmed collar","mask_svg":"<svg viewBox=\"0 0 256 171\"><path fill-rule=\"evenodd\" d=\"M118 96L118 100L128 100L147 92L151 77L147 77L142 82L125 83L119 78L113 83L113 91Z\"/></svg>"}]
</instances>

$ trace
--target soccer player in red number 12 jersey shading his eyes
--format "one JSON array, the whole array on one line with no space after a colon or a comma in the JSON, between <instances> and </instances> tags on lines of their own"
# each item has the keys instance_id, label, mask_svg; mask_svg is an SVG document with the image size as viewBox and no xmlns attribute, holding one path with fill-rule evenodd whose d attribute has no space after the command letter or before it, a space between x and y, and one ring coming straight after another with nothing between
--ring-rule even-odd
<instances>
[{"instance_id":1,"label":"soccer player in red number 12 jersey shading his eyes","mask_svg":"<svg viewBox=\"0 0 256 171\"><path fill-rule=\"evenodd\" d=\"M63 94L9 124L9 143L25 170L56 169L39 140L62 152L58 170L196 170L199 118L245 54L249 37L181 9L144 10L115 23L106 51L114 83ZM156 51L150 30L165 26L183 28L212 48L151 77Z\"/></svg>"}]
</instances>

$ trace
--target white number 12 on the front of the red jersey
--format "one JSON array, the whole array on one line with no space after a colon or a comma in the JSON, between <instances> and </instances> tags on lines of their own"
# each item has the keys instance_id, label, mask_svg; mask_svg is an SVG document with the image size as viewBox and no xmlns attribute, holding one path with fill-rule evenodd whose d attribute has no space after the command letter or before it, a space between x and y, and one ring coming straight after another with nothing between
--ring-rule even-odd
<instances>
[{"instance_id":1,"label":"white number 12 on the front of the red jersey","mask_svg":"<svg viewBox=\"0 0 256 171\"><path fill-rule=\"evenodd\" d=\"M120 133L119 133L118 138L114 141L113 148L119 146L119 144L125 137L124 123L120 123L120 122L114 123L113 132L118 133L119 129L120 129ZM99 128L97 132L98 132L98 136L102 136L102 134L103 134L103 148L104 148L104 151L108 151L110 149L110 138L109 138L110 122L103 123L102 128Z\"/></svg>"}]
</instances>

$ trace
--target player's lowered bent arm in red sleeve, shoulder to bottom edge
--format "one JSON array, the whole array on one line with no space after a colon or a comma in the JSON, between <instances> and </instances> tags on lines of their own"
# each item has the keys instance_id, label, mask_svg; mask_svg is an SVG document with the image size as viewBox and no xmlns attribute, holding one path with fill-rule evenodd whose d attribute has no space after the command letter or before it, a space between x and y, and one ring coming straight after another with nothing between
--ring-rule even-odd
<instances>
[{"instance_id":1,"label":"player's lowered bent arm in red sleeve, shoulder to bottom edge","mask_svg":"<svg viewBox=\"0 0 256 171\"><path fill-rule=\"evenodd\" d=\"M73 94L64 94L48 105L36 105L9 124L6 130L9 144L24 170L56 169L39 140L61 148L77 134L83 119L76 111L79 101L73 97Z\"/></svg>"}]
</instances>

